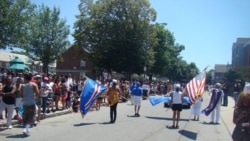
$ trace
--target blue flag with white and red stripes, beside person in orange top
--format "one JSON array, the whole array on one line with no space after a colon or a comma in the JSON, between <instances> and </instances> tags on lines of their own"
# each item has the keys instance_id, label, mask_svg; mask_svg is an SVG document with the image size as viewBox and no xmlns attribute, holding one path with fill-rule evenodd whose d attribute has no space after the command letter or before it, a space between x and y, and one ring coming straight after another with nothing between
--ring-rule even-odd
<instances>
[{"instance_id":1,"label":"blue flag with white and red stripes, beside person in orange top","mask_svg":"<svg viewBox=\"0 0 250 141\"><path fill-rule=\"evenodd\" d=\"M82 115L87 114L89 109L95 103L96 99L106 90L104 85L98 84L96 81L87 78L82 90L80 99L80 111Z\"/></svg>"}]
</instances>

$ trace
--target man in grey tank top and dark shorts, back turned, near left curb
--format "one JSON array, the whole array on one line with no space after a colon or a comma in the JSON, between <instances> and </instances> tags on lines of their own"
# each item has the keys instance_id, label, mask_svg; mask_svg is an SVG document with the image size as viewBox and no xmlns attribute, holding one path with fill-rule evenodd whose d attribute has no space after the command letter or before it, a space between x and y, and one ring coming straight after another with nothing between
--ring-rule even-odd
<instances>
[{"instance_id":1,"label":"man in grey tank top and dark shorts, back turned, near left curb","mask_svg":"<svg viewBox=\"0 0 250 141\"><path fill-rule=\"evenodd\" d=\"M30 126L34 123L36 114L36 98L40 93L37 84L31 81L32 74L25 75L26 83L21 87L20 95L23 98L23 133L30 135Z\"/></svg>"}]
</instances>

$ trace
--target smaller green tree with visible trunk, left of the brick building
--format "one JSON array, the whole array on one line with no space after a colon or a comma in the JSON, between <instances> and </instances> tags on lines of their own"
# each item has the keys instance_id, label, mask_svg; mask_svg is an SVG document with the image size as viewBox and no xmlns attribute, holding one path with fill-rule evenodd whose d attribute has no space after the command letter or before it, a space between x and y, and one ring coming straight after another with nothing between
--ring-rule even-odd
<instances>
[{"instance_id":1,"label":"smaller green tree with visible trunk, left of the brick building","mask_svg":"<svg viewBox=\"0 0 250 141\"><path fill-rule=\"evenodd\" d=\"M69 26L59 18L60 10L39 6L30 24L30 46L25 48L33 58L43 63L43 72L48 73L48 65L60 58L69 46L67 39Z\"/></svg>"}]
</instances>

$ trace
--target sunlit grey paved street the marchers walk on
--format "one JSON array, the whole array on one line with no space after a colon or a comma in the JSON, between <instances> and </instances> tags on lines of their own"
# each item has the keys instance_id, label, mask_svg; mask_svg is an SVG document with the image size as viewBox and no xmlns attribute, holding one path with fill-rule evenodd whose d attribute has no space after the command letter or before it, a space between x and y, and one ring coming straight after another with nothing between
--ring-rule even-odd
<instances>
[{"instance_id":1,"label":"sunlit grey paved street the marchers walk on","mask_svg":"<svg viewBox=\"0 0 250 141\"><path fill-rule=\"evenodd\" d=\"M202 107L209 102L204 96ZM31 130L31 136L22 134L22 127L1 129L0 141L230 141L234 125L232 123L233 100L229 106L221 108L221 123L207 124L210 117L201 115L200 121L193 121L190 110L181 113L179 129L169 129L172 125L172 110L163 108L163 103L151 106L143 100L141 117L133 117L134 108L127 103L118 104L118 117L115 124L109 124L109 108L101 107L99 111L90 111L84 119L80 114L70 113L42 120Z\"/></svg>"}]
</instances>

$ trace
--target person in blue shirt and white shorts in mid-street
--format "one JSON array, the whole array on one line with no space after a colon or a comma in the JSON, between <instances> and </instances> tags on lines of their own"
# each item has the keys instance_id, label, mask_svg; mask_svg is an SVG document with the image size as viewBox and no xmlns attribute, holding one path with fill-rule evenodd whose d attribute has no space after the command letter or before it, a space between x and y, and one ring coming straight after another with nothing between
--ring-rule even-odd
<instances>
[{"instance_id":1,"label":"person in blue shirt and white shorts in mid-street","mask_svg":"<svg viewBox=\"0 0 250 141\"><path fill-rule=\"evenodd\" d=\"M134 104L134 108L135 108L135 116L139 117L140 116L139 111L140 111L140 107L141 107L141 99L142 99L142 94L143 94L143 90L142 90L142 87L141 87L139 82L136 82L136 85L132 89L131 93L133 95L133 104Z\"/></svg>"}]
</instances>

